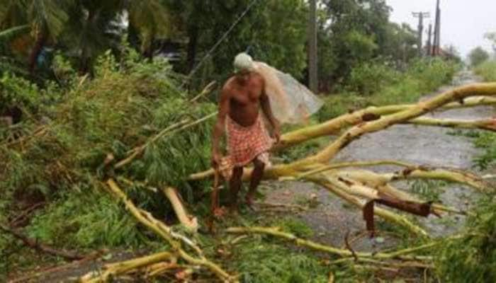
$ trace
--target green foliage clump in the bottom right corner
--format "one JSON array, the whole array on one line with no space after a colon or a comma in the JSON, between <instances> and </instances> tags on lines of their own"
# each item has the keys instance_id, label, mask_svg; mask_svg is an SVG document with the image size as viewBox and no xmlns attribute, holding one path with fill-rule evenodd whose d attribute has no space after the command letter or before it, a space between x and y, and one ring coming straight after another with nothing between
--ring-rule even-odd
<instances>
[{"instance_id":1,"label":"green foliage clump in the bottom right corner","mask_svg":"<svg viewBox=\"0 0 496 283\"><path fill-rule=\"evenodd\" d=\"M464 236L446 240L436 250L436 271L446 282L496 281L496 202L485 196L475 216L466 221Z\"/></svg>"}]
</instances>

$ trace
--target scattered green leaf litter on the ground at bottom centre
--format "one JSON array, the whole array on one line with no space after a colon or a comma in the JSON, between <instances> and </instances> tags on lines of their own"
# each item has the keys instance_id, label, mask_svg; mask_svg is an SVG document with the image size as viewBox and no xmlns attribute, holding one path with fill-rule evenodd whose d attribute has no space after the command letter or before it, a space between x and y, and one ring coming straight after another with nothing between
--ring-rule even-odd
<instances>
[{"instance_id":1,"label":"scattered green leaf litter on the ground at bottom centre","mask_svg":"<svg viewBox=\"0 0 496 283\"><path fill-rule=\"evenodd\" d=\"M245 226L277 226L282 231L303 238L311 238L313 234L304 221L282 214L271 217L240 214L236 219L225 219L219 225L228 227L240 223ZM237 235L224 234L222 229L219 231L220 234L216 235L218 240L202 236L205 246L212 245L208 249L208 256L222 262L227 270L235 270L244 283L323 283L328 282L330 272L337 282L367 281L373 277L368 273L356 272L348 265L329 266L329 260L337 258L299 248L278 238L252 235L234 241L238 238Z\"/></svg>"}]
</instances>

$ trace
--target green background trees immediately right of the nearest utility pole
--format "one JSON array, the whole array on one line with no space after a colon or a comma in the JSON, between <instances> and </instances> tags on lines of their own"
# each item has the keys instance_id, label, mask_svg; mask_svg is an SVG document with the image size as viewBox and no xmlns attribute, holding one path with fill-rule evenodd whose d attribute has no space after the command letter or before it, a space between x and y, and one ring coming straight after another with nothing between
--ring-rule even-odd
<instances>
[{"instance_id":1,"label":"green background trees immediately right of the nearest utility pole","mask_svg":"<svg viewBox=\"0 0 496 283\"><path fill-rule=\"evenodd\" d=\"M317 32L322 88L342 84L362 65L405 65L417 56L415 30L390 23L389 16L390 7L381 0L324 2ZM356 79L360 76L354 74Z\"/></svg>"}]
</instances>

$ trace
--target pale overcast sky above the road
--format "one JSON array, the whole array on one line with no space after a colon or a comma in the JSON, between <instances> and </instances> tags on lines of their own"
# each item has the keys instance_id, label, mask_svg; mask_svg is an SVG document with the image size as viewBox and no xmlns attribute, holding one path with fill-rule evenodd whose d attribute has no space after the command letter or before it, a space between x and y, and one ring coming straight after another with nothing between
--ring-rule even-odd
<instances>
[{"instance_id":1,"label":"pale overcast sky above the road","mask_svg":"<svg viewBox=\"0 0 496 283\"><path fill-rule=\"evenodd\" d=\"M408 23L417 30L418 18L412 12L429 12L424 19L423 41L427 40L429 23L434 30L436 0L386 0L393 8L390 21ZM496 32L496 0L440 0L441 47L454 45L462 57L475 47L490 52L491 44L484 39L487 32Z\"/></svg>"}]
</instances>

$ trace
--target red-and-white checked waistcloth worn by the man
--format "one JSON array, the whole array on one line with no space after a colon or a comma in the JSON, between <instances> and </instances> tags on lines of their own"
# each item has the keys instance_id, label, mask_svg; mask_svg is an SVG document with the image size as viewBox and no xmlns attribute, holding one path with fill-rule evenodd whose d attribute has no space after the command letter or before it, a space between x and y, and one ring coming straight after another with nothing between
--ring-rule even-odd
<instances>
[{"instance_id":1,"label":"red-and-white checked waistcloth worn by the man","mask_svg":"<svg viewBox=\"0 0 496 283\"><path fill-rule=\"evenodd\" d=\"M233 168L246 166L257 157L259 161L265 163L266 167L271 166L267 151L274 144L274 140L269 136L261 115L249 127L237 124L227 115L225 132L227 135L227 156L222 158L219 168L226 180L230 179Z\"/></svg>"}]
</instances>

